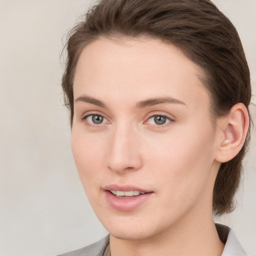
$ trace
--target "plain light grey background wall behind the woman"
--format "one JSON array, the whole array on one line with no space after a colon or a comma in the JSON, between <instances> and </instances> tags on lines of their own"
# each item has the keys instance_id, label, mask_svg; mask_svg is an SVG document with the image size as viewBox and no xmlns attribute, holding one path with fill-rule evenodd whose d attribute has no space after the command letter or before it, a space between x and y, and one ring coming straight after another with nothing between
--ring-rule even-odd
<instances>
[{"instance_id":1,"label":"plain light grey background wall behind the woman","mask_svg":"<svg viewBox=\"0 0 256 256\"><path fill-rule=\"evenodd\" d=\"M256 0L213 2L240 34L255 93ZM61 38L90 3L0 0L1 256L55 255L106 234L76 173L59 86ZM255 107L252 111L255 116ZM256 255L255 140L254 132L237 209L218 220L234 229L251 255Z\"/></svg>"}]
</instances>

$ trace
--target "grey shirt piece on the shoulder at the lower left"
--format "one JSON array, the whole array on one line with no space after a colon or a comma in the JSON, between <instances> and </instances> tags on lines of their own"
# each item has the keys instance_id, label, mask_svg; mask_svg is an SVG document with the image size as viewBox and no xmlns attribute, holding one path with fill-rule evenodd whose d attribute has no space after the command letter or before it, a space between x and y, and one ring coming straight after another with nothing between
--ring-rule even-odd
<instances>
[{"instance_id":1,"label":"grey shirt piece on the shoulder at the lower left","mask_svg":"<svg viewBox=\"0 0 256 256\"><path fill-rule=\"evenodd\" d=\"M109 243L109 235L105 236L103 239L95 243L92 243L88 246L85 246L78 250L69 251L57 256L103 256L108 243Z\"/></svg>"}]
</instances>

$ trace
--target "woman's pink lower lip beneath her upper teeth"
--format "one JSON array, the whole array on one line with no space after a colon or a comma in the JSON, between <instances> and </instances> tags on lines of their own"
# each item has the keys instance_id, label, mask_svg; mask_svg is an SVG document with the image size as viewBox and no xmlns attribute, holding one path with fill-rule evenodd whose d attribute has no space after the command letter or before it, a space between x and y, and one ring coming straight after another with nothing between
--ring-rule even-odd
<instances>
[{"instance_id":1,"label":"woman's pink lower lip beneath her upper teeth","mask_svg":"<svg viewBox=\"0 0 256 256\"><path fill-rule=\"evenodd\" d=\"M104 193L106 196L106 200L110 204L110 206L116 210L122 211L129 211L135 209L153 194L153 192L150 192L145 194L139 194L131 198L121 198L114 196L108 190L105 190Z\"/></svg>"}]
</instances>

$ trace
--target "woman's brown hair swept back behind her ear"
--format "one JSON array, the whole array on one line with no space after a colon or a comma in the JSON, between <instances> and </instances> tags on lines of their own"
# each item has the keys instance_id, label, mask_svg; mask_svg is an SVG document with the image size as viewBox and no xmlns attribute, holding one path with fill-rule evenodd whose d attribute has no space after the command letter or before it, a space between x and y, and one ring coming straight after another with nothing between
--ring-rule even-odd
<instances>
[{"instance_id":1,"label":"woman's brown hair swept back behind her ear","mask_svg":"<svg viewBox=\"0 0 256 256\"><path fill-rule=\"evenodd\" d=\"M202 68L214 119L227 114L238 102L248 109L250 75L239 36L210 0L100 0L68 34L62 88L71 124L78 57L88 43L102 36L148 36L173 44ZM240 152L219 168L212 202L216 215L234 208L248 142L249 132Z\"/></svg>"}]
</instances>

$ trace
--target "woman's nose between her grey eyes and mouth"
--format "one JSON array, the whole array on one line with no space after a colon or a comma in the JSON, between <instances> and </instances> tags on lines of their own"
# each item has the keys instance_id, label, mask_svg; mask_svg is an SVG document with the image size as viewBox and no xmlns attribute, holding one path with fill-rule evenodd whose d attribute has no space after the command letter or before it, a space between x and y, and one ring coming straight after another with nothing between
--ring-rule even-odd
<instances>
[{"instance_id":1,"label":"woman's nose between her grey eyes and mouth","mask_svg":"<svg viewBox=\"0 0 256 256\"><path fill-rule=\"evenodd\" d=\"M108 168L119 174L126 170L138 170L142 166L138 132L123 126L119 125L112 131L107 157Z\"/></svg>"}]
</instances>

